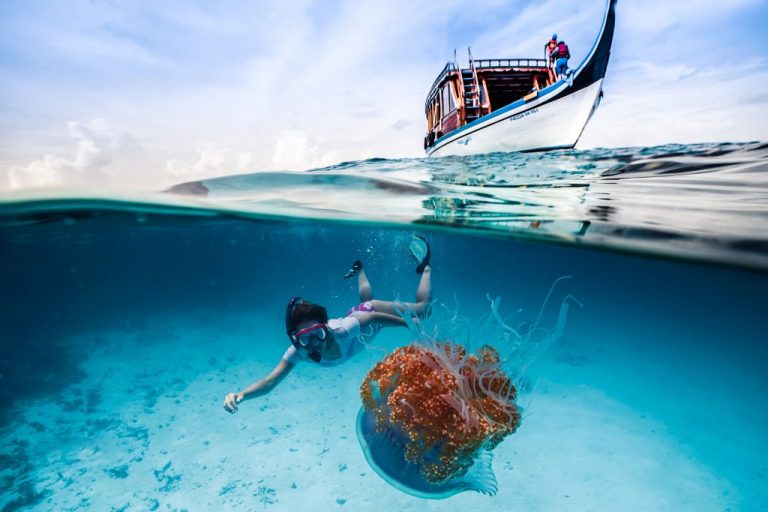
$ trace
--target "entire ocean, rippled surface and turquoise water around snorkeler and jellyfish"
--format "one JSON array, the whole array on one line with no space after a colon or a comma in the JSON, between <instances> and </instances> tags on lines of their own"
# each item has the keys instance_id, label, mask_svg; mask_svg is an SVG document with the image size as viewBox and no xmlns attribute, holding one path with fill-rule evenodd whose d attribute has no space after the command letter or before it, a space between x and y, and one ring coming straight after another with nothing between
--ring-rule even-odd
<instances>
[{"instance_id":1,"label":"entire ocean, rippled surface and turquoise water around snorkeler and jellyfish","mask_svg":"<svg viewBox=\"0 0 768 512\"><path fill-rule=\"evenodd\" d=\"M501 299L555 333L501 354L524 414L495 496L416 498L363 456L360 385L413 330L223 408L280 361L291 297L359 302L354 260L377 298L412 300L414 233L424 329L461 319L454 342L504 346L476 327ZM766 510L767 291L761 143L5 193L0 510Z\"/></svg>"}]
</instances>

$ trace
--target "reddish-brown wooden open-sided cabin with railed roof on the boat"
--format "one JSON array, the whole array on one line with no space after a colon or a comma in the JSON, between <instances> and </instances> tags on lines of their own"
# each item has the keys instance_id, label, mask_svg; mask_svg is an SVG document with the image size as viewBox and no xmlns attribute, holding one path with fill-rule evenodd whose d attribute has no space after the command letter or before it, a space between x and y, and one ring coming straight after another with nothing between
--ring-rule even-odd
<instances>
[{"instance_id":1,"label":"reddish-brown wooden open-sided cabin with railed roof on the boat","mask_svg":"<svg viewBox=\"0 0 768 512\"><path fill-rule=\"evenodd\" d=\"M424 149L440 137L520 99L532 100L556 82L549 59L478 59L469 67L449 62L432 84L424 106Z\"/></svg>"}]
</instances>

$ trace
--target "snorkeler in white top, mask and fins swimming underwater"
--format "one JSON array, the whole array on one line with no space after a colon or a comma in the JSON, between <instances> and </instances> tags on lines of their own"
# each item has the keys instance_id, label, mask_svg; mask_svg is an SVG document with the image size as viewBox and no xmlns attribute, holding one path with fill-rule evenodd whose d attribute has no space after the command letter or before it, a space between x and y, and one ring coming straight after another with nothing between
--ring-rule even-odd
<instances>
[{"instance_id":1,"label":"snorkeler in white top, mask and fins swimming underwater","mask_svg":"<svg viewBox=\"0 0 768 512\"><path fill-rule=\"evenodd\" d=\"M429 244L422 236L414 235L408 251L417 262L416 272L421 274L416 302L374 299L363 264L355 261L344 277L357 276L360 304L351 308L343 318L329 319L323 306L300 297L291 299L285 311L285 330L291 346L269 375L240 392L228 393L224 398L224 409L234 413L240 402L266 395L301 361L320 366L336 366L347 361L363 350L382 328L407 327L401 316L405 312L416 318L427 316L432 300Z\"/></svg>"}]
</instances>

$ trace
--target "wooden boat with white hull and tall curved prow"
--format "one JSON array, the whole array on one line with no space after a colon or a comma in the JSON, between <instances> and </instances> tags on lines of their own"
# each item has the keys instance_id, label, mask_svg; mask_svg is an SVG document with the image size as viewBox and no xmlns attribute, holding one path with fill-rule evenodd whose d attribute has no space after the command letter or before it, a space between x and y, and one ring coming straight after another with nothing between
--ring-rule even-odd
<instances>
[{"instance_id":1,"label":"wooden boat with white hull and tall curved prow","mask_svg":"<svg viewBox=\"0 0 768 512\"><path fill-rule=\"evenodd\" d=\"M549 151L576 145L602 98L616 24L607 0L600 34L564 78L548 59L473 59L449 62L427 95L429 156L495 151Z\"/></svg>"}]
</instances>

